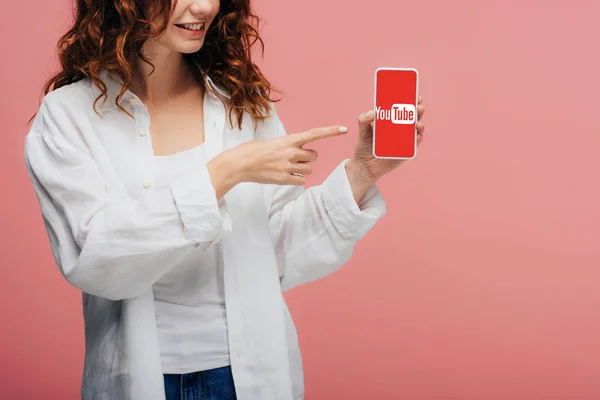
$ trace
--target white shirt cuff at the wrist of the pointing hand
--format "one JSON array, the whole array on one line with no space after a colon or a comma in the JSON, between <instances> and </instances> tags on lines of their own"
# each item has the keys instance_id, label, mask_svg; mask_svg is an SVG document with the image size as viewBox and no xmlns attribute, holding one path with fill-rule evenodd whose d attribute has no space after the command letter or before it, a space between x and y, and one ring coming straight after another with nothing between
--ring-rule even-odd
<instances>
[{"instance_id":1,"label":"white shirt cuff at the wrist of the pointing hand","mask_svg":"<svg viewBox=\"0 0 600 400\"><path fill-rule=\"evenodd\" d=\"M231 231L231 217L217 194L205 165L173 182L170 191L183 223L183 235L195 243L208 242L207 248Z\"/></svg>"}]
</instances>

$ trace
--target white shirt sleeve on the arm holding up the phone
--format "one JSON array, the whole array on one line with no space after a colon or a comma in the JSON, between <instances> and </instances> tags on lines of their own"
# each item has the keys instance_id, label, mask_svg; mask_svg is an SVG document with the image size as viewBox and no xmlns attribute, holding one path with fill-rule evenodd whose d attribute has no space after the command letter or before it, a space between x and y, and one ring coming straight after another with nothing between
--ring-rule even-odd
<instances>
[{"instance_id":1,"label":"white shirt sleeve on the arm holding up the phone","mask_svg":"<svg viewBox=\"0 0 600 400\"><path fill-rule=\"evenodd\" d=\"M274 114L277 134L285 135ZM269 224L282 290L325 277L352 256L357 242L386 213L376 185L356 203L343 160L318 186L271 186Z\"/></svg>"}]
</instances>

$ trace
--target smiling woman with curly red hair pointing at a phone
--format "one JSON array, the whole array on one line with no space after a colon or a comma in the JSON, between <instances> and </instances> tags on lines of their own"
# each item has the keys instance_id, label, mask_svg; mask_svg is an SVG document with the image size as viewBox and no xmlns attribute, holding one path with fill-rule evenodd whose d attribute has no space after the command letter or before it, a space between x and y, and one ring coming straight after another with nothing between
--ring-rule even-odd
<instances>
[{"instance_id":1,"label":"smiling woman with curly red hair pointing at a phone","mask_svg":"<svg viewBox=\"0 0 600 400\"><path fill-rule=\"evenodd\" d=\"M304 146L346 129L286 135L249 0L173 3L79 0L25 142L56 263L83 292L82 398L301 399L282 292L350 258L399 163L373 159L369 113L355 154L304 190Z\"/></svg>"}]
</instances>

